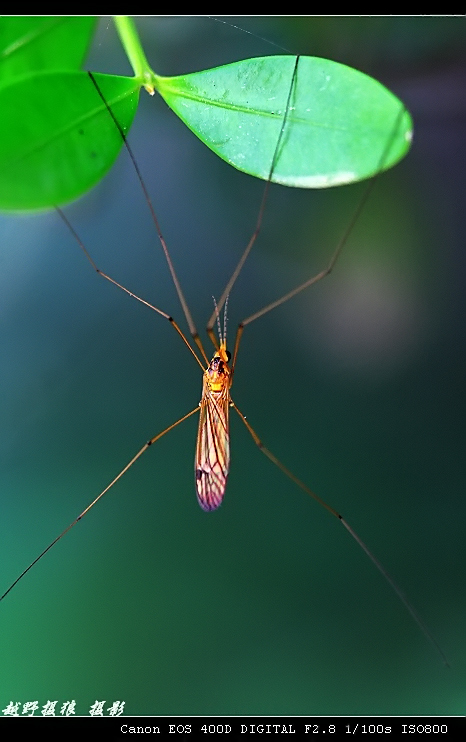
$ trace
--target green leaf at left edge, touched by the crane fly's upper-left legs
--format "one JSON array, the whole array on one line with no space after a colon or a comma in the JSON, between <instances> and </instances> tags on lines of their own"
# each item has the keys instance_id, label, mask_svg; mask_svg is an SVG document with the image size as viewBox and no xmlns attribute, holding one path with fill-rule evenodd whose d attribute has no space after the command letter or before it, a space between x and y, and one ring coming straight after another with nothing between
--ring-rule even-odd
<instances>
[{"instance_id":1,"label":"green leaf at left edge, touched by the crane fly's upper-left legs","mask_svg":"<svg viewBox=\"0 0 466 742\"><path fill-rule=\"evenodd\" d=\"M123 131L140 82L94 75ZM0 208L50 208L82 196L110 169L123 139L87 72L42 72L0 87Z\"/></svg>"}]
</instances>

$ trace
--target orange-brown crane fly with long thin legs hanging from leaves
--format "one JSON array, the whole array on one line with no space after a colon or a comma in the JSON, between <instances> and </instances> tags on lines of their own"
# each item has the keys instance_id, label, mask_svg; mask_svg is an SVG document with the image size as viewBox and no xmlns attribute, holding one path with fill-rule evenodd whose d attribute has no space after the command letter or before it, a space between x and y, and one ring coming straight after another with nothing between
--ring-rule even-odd
<instances>
[{"instance_id":1,"label":"orange-brown crane fly with long thin legs hanging from leaves","mask_svg":"<svg viewBox=\"0 0 466 742\"><path fill-rule=\"evenodd\" d=\"M261 229L265 204L267 201L267 195L268 195L272 175L274 173L276 161L279 156L280 147L285 139L287 117L292 107L291 101L292 101L292 96L293 96L293 90L296 84L298 69L299 69L299 57L296 57L296 61L293 67L292 77L290 80L288 98L286 101L286 105L284 106L284 113L283 113L283 117L281 121L281 128L280 128L279 136L278 136L278 139L275 145L275 151L273 153L272 161L270 164L269 177L265 185L265 189L264 189L264 193L263 193L254 232L235 270L233 271L233 274L230 280L228 281L224 289L224 292L218 301L218 304L215 304L214 311L207 324L207 334L214 346L214 354L210 360L204 349L204 346L202 344L202 341L199 337L198 331L192 319L191 312L188 308L186 299L182 292L177 274L175 272L175 269L174 269L174 266L171 260L170 253L165 243L165 239L162 235L162 231L160 229L157 216L152 206L152 202L147 192L147 188L145 186L144 180L140 173L138 164L132 153L131 147L126 140L125 134L122 131L117 119L115 118L114 113L112 112L111 108L107 105L105 99L103 98L102 93L95 79L93 78L91 73L89 73L90 81L95 86L96 94L98 94L100 98L103 100L108 110L109 118L112 121L112 125L116 126L119 129L124 145L133 162L133 166L135 168L137 177L139 179L140 186L142 188L148 207L152 214L152 219L153 219L153 222L154 222L154 225L155 225L155 228L156 228L159 240L160 240L160 244L164 252L165 259L167 261L187 325L189 327L189 332L192 338L192 342L190 342L187 335L185 335L182 332L179 325L173 319L173 317L171 317L171 315L169 315L167 312L163 311L159 307L146 301L145 299L137 296L132 291L130 291L128 288L120 284L117 280L107 275L100 268L98 268L93 258L91 257L86 247L84 246L83 242L81 241L80 237L78 236L77 232L75 231L75 229L69 222L67 216L64 214L64 212L60 208L57 208L58 214L60 215L60 217L63 219L63 221L67 225L67 228L69 229L71 234L74 236L76 242L78 243L81 250L83 251L86 259L89 261L90 265L97 272L98 275L102 276L106 281L115 285L117 288L119 288L120 290L128 294L130 297L145 304L147 307L155 311L157 314L159 314L160 316L168 320L170 324L174 327L174 329L176 330L178 335L181 337L185 345L189 348L191 354L194 356L194 358L196 359L196 362L202 369L202 372L203 372L202 396L201 396L201 400L199 404L196 405L194 409L192 409L187 414L183 415L181 418L176 420L170 426L166 427L164 430L162 430L157 435L153 436L150 440L148 440L142 446L142 448L131 458L131 460L126 464L126 466L124 466L124 468L111 480L111 482L105 487L105 489L103 489L97 495L97 497L95 497L94 500L78 515L78 517L64 531L62 531L62 533L60 533L39 554L39 556L36 559L34 559L33 562L29 564L29 566L19 575L19 577L4 592L0 600L3 599L13 589L13 587L26 575L27 572L29 572L29 570L40 559L42 559L42 557L52 548L52 546L54 546L71 528L73 528L84 517L84 515L86 515L89 512L89 510L116 484L116 482L119 481L119 479L133 466L133 464L142 456L143 453L145 453L145 451L150 446L152 446L156 441L158 441L160 438L165 436L173 428L177 427L182 422L184 422L186 419L188 419L189 417L197 413L199 414L198 436L197 436L196 453L195 453L195 482L196 482L197 498L198 498L198 502L200 506L205 511L212 511L218 508L225 494L228 472L230 468L229 411L231 407L239 415L241 421L243 422L249 434L253 438L253 441L260 448L260 450L267 456L267 458L276 467L278 467L289 479L291 479L298 487L304 490L305 493L310 495L323 508L325 508L327 512L329 512L332 516L337 518L342 523L342 525L349 532L352 538L358 543L359 547L366 553L369 559L377 567L379 572L383 575L384 579L390 584L394 592L397 594L398 598L402 601L405 608L408 610L408 612L411 614L414 621L417 623L420 630L424 633L427 639L439 652L445 664L448 664L436 640L434 639L434 637L432 636L432 634L430 633L430 631L424 624L423 620L421 619L417 611L412 606L411 602L406 598L406 596L401 591L398 584L393 580L393 578L387 572L385 567L379 562L379 560L375 557L372 551L366 546L364 541L359 537L359 535L354 531L354 529L349 525L349 523L340 515L340 513L337 510L335 510L332 506L330 506L326 501L321 499L315 492L313 492L304 482L302 482L298 477L296 477L294 473L290 471L280 461L280 459L278 459L271 451L269 451L268 448L265 447L265 445L262 443L262 440L259 438L254 428L250 425L246 417L237 407L237 405L233 401L231 394L230 394L230 389L232 386L233 376L234 376L234 371L235 371L235 364L236 364L236 360L238 356L238 350L240 347L240 342L241 342L241 338L242 338L245 327L251 324L252 322L254 322L255 320L259 319L263 315L267 314L268 312L272 311L276 307L284 304L285 302L287 302L288 300L296 296L301 291L321 281L323 278L325 278L326 276L330 274L330 272L333 270L339 258L341 250L343 246L345 245L350 232L352 231L354 227L356 220L358 219L367 201L369 193L375 182L375 178L373 178L370 181L369 186L365 192L365 195L363 196L360 203L358 204L354 217L351 220L347 230L345 231L336 249L334 250L327 267L321 270L319 273L313 275L311 278L309 278L304 283L297 286L292 291L288 292L287 294L280 297L279 299L271 302L270 304L266 305L259 311L256 311L254 314L250 315L249 317L244 319L242 322L240 322L237 332L236 332L233 353L230 354L230 351L227 349L227 342L226 342L226 303L228 301L228 297L230 296L231 290L236 282L236 279L238 278L242 270L244 262L246 258L248 257L249 252L251 251L254 243L256 242L257 236ZM403 113L404 113L404 107L400 111L400 115L402 115ZM393 131L392 136L396 132L397 125L398 125L398 122L395 122L394 131ZM381 153L377 175L383 170L383 165L385 162L385 158L387 156L387 152L390 149L390 144L391 144L391 140L387 142L386 151ZM225 309L224 309L224 329L222 332L220 329L220 312L223 308ZM214 330L213 330L216 322L218 325L218 338L216 337Z\"/></svg>"}]
</instances>

